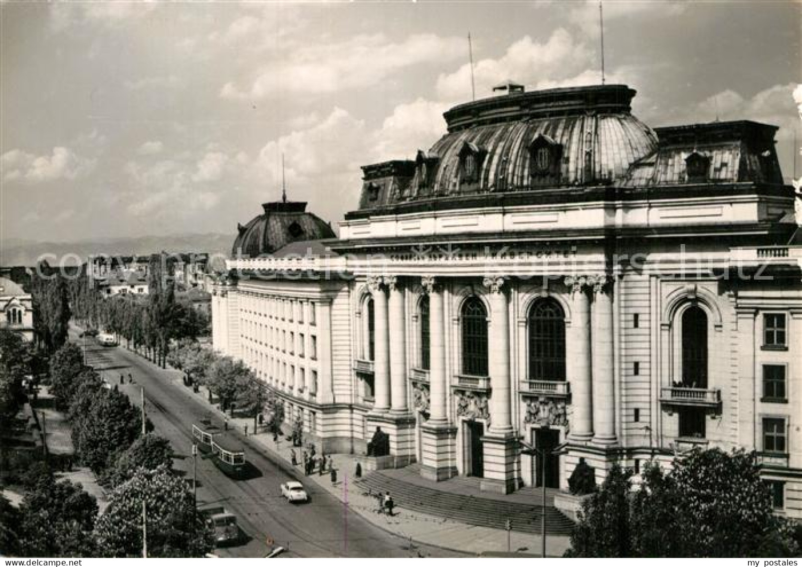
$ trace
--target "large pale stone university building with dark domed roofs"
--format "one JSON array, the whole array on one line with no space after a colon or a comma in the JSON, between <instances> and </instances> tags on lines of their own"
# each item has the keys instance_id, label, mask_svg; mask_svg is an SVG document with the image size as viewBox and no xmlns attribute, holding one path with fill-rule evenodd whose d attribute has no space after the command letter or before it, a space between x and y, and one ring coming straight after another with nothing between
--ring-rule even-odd
<instances>
[{"instance_id":1,"label":"large pale stone university building with dark domed roofs","mask_svg":"<svg viewBox=\"0 0 802 567\"><path fill-rule=\"evenodd\" d=\"M777 128L650 128L625 85L445 113L363 167L339 237L305 203L239 226L213 341L326 452L567 490L579 460L754 449L802 517L802 246ZM545 459L525 448L548 453Z\"/></svg>"}]
</instances>

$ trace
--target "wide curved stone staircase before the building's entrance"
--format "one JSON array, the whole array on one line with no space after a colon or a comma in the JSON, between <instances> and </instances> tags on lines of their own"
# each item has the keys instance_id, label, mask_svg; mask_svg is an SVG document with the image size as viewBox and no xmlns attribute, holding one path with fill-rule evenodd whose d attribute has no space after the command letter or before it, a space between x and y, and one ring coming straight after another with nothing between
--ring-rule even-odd
<instances>
[{"instance_id":1,"label":"wide curved stone staircase before the building's entrance","mask_svg":"<svg viewBox=\"0 0 802 567\"><path fill-rule=\"evenodd\" d=\"M540 533L541 531L540 498L533 501L533 504L526 504L520 501L445 492L407 482L381 471L371 472L356 484L360 492L367 492L368 489L377 493L389 491L396 506L430 516L492 529L506 529L506 521L510 520L512 530L515 532ZM546 502L546 533L569 536L573 531L573 521L549 504L548 498Z\"/></svg>"}]
</instances>

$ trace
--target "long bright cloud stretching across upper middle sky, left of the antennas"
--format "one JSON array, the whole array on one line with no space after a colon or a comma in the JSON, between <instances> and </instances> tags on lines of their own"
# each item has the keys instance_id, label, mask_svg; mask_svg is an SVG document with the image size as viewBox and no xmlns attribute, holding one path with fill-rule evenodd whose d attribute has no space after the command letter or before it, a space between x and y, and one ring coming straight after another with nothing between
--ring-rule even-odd
<instances>
[{"instance_id":1,"label":"long bright cloud stretching across upper middle sky, left of the antennas","mask_svg":"<svg viewBox=\"0 0 802 567\"><path fill-rule=\"evenodd\" d=\"M383 34L360 34L340 43L301 45L261 67L252 79L225 83L220 95L224 99L262 99L371 87L404 68L443 64L463 52L460 38L415 34L391 43Z\"/></svg>"}]
</instances>

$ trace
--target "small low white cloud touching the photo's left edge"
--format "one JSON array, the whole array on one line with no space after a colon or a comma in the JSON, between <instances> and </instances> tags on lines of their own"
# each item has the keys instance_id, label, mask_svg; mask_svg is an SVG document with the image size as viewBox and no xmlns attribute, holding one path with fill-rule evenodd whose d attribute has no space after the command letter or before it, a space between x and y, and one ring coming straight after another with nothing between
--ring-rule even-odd
<instances>
[{"instance_id":1,"label":"small low white cloud touching the photo's left edge","mask_svg":"<svg viewBox=\"0 0 802 567\"><path fill-rule=\"evenodd\" d=\"M20 149L2 155L3 180L22 180L39 183L55 180L74 180L86 176L95 168L96 160L78 156L69 148L57 146L50 156L34 156Z\"/></svg>"}]
</instances>

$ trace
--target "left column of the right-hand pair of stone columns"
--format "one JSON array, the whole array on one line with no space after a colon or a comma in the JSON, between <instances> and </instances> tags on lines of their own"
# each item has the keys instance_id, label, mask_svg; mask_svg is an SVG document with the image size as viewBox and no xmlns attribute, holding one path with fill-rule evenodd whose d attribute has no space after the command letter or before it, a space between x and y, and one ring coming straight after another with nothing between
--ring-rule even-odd
<instances>
[{"instance_id":1,"label":"left column of the right-hand pair of stone columns","mask_svg":"<svg viewBox=\"0 0 802 567\"><path fill-rule=\"evenodd\" d=\"M571 384L573 417L571 438L588 441L593 437L593 387L590 382L590 306L583 276L565 277L571 290L571 328L568 330L568 381Z\"/></svg>"}]
</instances>

